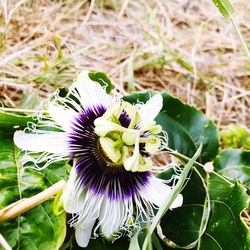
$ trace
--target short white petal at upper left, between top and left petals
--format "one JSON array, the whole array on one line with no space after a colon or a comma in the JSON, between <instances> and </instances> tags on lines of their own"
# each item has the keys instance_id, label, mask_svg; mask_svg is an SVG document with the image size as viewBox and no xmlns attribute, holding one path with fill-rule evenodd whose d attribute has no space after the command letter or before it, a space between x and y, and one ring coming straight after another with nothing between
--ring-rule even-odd
<instances>
[{"instance_id":1,"label":"short white petal at upper left, between top and left petals","mask_svg":"<svg viewBox=\"0 0 250 250\"><path fill-rule=\"evenodd\" d=\"M77 113L72 109L65 109L62 106L51 104L48 108L52 119L58 123L66 132L71 131L73 121Z\"/></svg>"}]
</instances>

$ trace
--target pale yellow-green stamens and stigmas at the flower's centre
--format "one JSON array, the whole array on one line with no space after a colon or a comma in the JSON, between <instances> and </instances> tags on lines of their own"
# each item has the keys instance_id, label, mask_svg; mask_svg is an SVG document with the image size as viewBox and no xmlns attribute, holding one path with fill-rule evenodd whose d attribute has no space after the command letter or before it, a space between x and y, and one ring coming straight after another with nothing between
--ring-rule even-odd
<instances>
[{"instance_id":1,"label":"pale yellow-green stamens and stigmas at the flower's centre","mask_svg":"<svg viewBox=\"0 0 250 250\"><path fill-rule=\"evenodd\" d=\"M137 108L128 102L115 103L94 121L100 147L111 166L124 166L127 171L144 172L153 168L150 155L160 146L162 128L155 121L140 126Z\"/></svg>"}]
</instances>

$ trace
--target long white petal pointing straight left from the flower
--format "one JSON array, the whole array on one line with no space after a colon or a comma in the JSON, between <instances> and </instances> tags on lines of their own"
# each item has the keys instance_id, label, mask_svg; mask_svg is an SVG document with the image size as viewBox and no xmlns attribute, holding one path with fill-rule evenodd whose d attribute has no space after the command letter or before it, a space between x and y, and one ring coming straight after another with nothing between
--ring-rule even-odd
<instances>
[{"instance_id":1,"label":"long white petal pointing straight left from the flower","mask_svg":"<svg viewBox=\"0 0 250 250\"><path fill-rule=\"evenodd\" d=\"M24 131L16 131L14 143L22 150L33 152L48 152L67 156L67 135L64 132L50 132L48 134L28 134Z\"/></svg>"}]
</instances>

